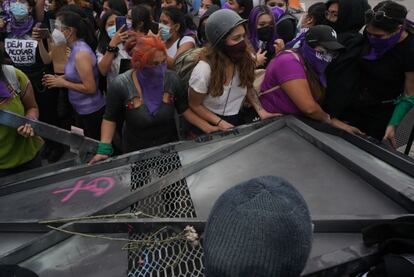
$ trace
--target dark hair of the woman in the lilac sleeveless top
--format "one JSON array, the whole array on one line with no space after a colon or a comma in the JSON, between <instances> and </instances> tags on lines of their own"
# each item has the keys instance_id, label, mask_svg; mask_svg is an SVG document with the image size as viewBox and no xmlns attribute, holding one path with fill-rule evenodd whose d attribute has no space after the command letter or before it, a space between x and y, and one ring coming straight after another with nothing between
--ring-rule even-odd
<instances>
[{"instance_id":1,"label":"dark hair of the woman in the lilac sleeveless top","mask_svg":"<svg viewBox=\"0 0 414 277\"><path fill-rule=\"evenodd\" d=\"M79 13L62 9L56 17L60 18L63 25L74 28L76 37L83 39L95 51L97 47L95 31L86 16L82 17Z\"/></svg>"}]
</instances>

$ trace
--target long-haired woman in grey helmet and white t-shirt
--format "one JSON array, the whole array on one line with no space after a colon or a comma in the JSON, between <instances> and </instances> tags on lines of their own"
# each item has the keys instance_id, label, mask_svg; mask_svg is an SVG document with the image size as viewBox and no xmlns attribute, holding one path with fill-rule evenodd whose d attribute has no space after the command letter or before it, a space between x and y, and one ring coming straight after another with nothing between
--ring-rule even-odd
<instances>
[{"instance_id":1,"label":"long-haired woman in grey helmet and white t-shirt","mask_svg":"<svg viewBox=\"0 0 414 277\"><path fill-rule=\"evenodd\" d=\"M261 107L253 89L256 63L245 22L228 9L209 17L206 23L209 44L189 81L191 109L220 130L243 123L240 108L246 96L261 119L276 116Z\"/></svg>"}]
</instances>

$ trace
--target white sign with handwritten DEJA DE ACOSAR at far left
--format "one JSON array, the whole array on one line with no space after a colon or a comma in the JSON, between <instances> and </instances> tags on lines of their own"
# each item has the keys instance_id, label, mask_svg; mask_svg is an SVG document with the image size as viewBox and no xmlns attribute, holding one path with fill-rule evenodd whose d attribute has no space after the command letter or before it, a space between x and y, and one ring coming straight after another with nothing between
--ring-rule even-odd
<instances>
[{"instance_id":1,"label":"white sign with handwritten DEJA DE ACOSAR at far left","mask_svg":"<svg viewBox=\"0 0 414 277\"><path fill-rule=\"evenodd\" d=\"M4 43L6 53L14 64L32 65L36 63L37 41L7 38Z\"/></svg>"}]
</instances>

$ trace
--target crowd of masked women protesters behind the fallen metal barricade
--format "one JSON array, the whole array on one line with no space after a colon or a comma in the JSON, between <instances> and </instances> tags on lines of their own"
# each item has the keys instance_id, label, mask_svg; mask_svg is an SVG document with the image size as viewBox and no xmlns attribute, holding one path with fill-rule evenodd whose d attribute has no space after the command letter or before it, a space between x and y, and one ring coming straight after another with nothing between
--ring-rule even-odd
<instances>
[{"instance_id":1,"label":"crowd of masked women protesters behind the fallen metal barricade","mask_svg":"<svg viewBox=\"0 0 414 277\"><path fill-rule=\"evenodd\" d=\"M288 0L0 2L0 109L83 129L91 163L285 114L395 145L414 105L413 25L394 1L302 16ZM0 126L0 176L64 152Z\"/></svg>"}]
</instances>

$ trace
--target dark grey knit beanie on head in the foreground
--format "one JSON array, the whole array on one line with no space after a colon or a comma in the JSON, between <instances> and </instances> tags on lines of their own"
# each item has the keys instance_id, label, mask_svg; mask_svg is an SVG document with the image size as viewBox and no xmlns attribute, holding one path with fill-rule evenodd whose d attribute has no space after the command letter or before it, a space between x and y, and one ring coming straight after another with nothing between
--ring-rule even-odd
<instances>
[{"instance_id":1,"label":"dark grey knit beanie on head in the foreground","mask_svg":"<svg viewBox=\"0 0 414 277\"><path fill-rule=\"evenodd\" d=\"M311 217L291 184L264 176L222 194L204 235L207 277L298 277L311 250Z\"/></svg>"}]
</instances>

